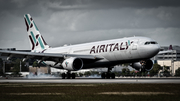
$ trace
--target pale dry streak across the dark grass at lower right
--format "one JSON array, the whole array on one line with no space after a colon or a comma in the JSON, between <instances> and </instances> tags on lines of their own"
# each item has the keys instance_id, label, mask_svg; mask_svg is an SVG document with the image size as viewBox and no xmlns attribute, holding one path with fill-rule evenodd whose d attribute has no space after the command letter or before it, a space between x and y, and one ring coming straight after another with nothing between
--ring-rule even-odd
<instances>
[{"instance_id":1,"label":"pale dry streak across the dark grass at lower right","mask_svg":"<svg viewBox=\"0 0 180 101\"><path fill-rule=\"evenodd\" d=\"M168 93L168 92L101 92L98 94L105 94L105 95L159 95L159 94L173 95L174 93Z\"/></svg>"}]
</instances>

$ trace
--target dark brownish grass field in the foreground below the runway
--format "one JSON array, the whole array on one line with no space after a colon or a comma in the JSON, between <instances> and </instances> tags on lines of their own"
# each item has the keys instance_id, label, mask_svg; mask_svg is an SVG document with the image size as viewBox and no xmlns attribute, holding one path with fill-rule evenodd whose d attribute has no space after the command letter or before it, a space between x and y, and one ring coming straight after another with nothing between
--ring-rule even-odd
<instances>
[{"instance_id":1,"label":"dark brownish grass field in the foreground below the runway","mask_svg":"<svg viewBox=\"0 0 180 101\"><path fill-rule=\"evenodd\" d=\"M180 101L180 84L0 83L0 101Z\"/></svg>"}]
</instances>

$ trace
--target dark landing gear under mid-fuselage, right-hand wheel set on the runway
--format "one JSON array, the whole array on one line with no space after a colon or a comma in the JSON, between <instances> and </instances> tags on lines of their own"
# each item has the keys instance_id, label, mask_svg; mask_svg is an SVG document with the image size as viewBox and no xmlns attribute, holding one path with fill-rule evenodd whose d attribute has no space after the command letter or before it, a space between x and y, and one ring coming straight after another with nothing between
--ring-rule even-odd
<instances>
[{"instance_id":1,"label":"dark landing gear under mid-fuselage, right-hand wheel set on the runway","mask_svg":"<svg viewBox=\"0 0 180 101\"><path fill-rule=\"evenodd\" d=\"M108 67L108 71L101 74L102 79L115 79L115 74L111 72L112 67Z\"/></svg>"}]
</instances>

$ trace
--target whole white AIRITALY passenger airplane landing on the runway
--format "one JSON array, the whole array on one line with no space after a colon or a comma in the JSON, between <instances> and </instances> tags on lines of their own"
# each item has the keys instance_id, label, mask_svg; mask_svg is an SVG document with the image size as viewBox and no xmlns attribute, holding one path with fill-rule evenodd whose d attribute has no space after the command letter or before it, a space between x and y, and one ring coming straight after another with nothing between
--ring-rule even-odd
<instances>
[{"instance_id":1,"label":"whole white AIRITALY passenger airplane landing on the runway","mask_svg":"<svg viewBox=\"0 0 180 101\"><path fill-rule=\"evenodd\" d=\"M65 69L68 72L62 74L62 79L75 79L75 73L71 71L90 68L108 68L101 77L114 79L112 68L124 63L131 63L132 68L139 71L150 71L153 66L150 58L160 50L159 44L147 37L126 37L52 48L40 34L30 14L24 15L24 20L31 52L0 50L1 56L6 56L7 60L12 57L23 58L23 61L33 58L47 66Z\"/></svg>"}]
</instances>

